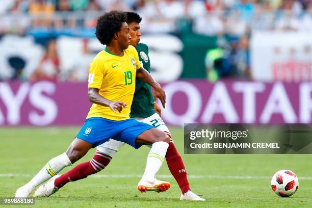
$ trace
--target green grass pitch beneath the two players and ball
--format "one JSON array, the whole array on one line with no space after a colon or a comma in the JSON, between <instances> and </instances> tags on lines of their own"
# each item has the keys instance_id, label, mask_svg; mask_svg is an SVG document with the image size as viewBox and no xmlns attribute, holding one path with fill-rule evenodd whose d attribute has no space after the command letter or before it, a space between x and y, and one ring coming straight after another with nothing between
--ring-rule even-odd
<instances>
[{"instance_id":1,"label":"green grass pitch beneath the two players and ball","mask_svg":"<svg viewBox=\"0 0 312 208\"><path fill-rule=\"evenodd\" d=\"M66 150L78 130L0 128L0 197L12 197L49 159ZM188 155L183 152L183 129L170 130L185 162L192 191L206 201L180 201L180 190L169 176L166 163L158 178L168 180L171 189L160 194L139 193L138 175L144 171L149 148L135 150L126 145L106 169L67 184L49 198L38 198L36 205L29 207L311 207L312 154ZM80 162L90 160L94 151L90 150ZM289 198L277 196L270 187L271 176L280 169L290 169L299 177L298 192Z\"/></svg>"}]
</instances>

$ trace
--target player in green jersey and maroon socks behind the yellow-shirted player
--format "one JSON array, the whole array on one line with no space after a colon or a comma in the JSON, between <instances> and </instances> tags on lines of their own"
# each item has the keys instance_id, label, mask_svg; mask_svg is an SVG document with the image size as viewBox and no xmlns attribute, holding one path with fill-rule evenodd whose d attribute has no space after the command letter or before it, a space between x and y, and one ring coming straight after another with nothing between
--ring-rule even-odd
<instances>
[{"instance_id":1,"label":"player in green jersey and maroon socks behind the yellow-shirted player","mask_svg":"<svg viewBox=\"0 0 312 208\"><path fill-rule=\"evenodd\" d=\"M141 37L140 22L142 19L138 14L133 12L126 12L126 16L127 23L129 25L129 35L131 36L131 45L135 46L138 51L141 66L150 72L148 46L146 44L139 43ZM136 79L136 90L131 107L131 118L154 126L165 132L171 138L168 127L160 117L161 108L156 102L154 102L153 97L154 96L152 95L150 86L141 80ZM70 181L83 179L88 175L101 171L110 163L114 154L124 144L124 142L111 139L108 142L97 146L97 150L91 161L81 163L72 168L70 171L64 173L55 180L54 185L60 189ZM174 176L181 189L182 194L180 196L180 200L205 200L191 191L183 160L177 152L172 139L170 139L165 158L171 174ZM91 167L90 164L92 165ZM160 192L161 190L155 187L147 189L146 191Z\"/></svg>"}]
</instances>

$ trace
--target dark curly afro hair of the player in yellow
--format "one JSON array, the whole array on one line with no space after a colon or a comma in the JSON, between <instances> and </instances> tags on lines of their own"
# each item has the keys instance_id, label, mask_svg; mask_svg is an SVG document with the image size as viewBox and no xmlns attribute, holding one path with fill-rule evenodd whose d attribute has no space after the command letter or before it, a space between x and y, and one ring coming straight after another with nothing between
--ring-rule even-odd
<instances>
[{"instance_id":1,"label":"dark curly afro hair of the player in yellow","mask_svg":"<svg viewBox=\"0 0 312 208\"><path fill-rule=\"evenodd\" d=\"M114 34L121 30L122 22L126 19L126 14L118 11L106 12L98 17L95 35L99 42L103 45L109 44Z\"/></svg>"}]
</instances>

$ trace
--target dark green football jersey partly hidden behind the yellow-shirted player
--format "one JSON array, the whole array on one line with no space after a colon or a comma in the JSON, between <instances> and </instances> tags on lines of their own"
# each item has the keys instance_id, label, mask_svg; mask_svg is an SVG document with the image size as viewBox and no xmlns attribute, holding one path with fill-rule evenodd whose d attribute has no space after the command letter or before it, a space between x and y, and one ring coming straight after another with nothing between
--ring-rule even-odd
<instances>
[{"instance_id":1,"label":"dark green football jersey partly hidden behind the yellow-shirted player","mask_svg":"<svg viewBox=\"0 0 312 208\"><path fill-rule=\"evenodd\" d=\"M150 73L148 46L146 44L139 43L136 46L136 49L139 54L141 65L143 64L142 67ZM154 98L150 90L150 85L140 79L136 79L136 91L133 97L130 116L132 118L147 118L154 113Z\"/></svg>"}]
</instances>

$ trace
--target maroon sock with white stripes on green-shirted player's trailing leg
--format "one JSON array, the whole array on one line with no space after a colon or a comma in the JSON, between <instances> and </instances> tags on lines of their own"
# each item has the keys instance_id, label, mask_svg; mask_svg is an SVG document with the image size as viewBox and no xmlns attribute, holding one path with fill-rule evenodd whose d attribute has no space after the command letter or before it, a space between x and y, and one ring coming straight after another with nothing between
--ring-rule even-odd
<instances>
[{"instance_id":1,"label":"maroon sock with white stripes on green-shirted player's trailing leg","mask_svg":"<svg viewBox=\"0 0 312 208\"><path fill-rule=\"evenodd\" d=\"M91 161L81 163L64 173L54 181L54 185L60 189L70 181L80 180L97 173L104 169L111 159L109 155L96 151Z\"/></svg>"}]
</instances>

